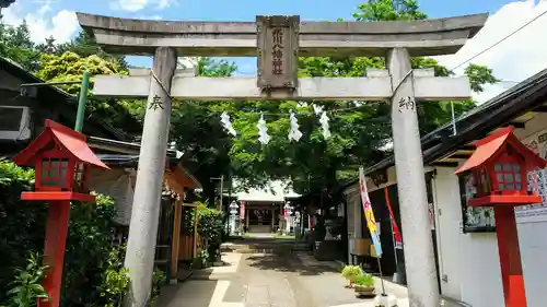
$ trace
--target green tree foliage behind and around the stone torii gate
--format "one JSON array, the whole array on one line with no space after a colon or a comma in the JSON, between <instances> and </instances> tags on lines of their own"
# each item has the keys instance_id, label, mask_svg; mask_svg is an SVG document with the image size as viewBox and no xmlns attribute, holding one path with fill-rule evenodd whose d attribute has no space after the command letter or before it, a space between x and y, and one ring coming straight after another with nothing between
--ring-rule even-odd
<instances>
[{"instance_id":1,"label":"green tree foliage behind and around the stone torii gate","mask_svg":"<svg viewBox=\"0 0 547 307\"><path fill-rule=\"evenodd\" d=\"M353 19L371 21L423 20L417 0L369 0L357 8ZM2 28L0 55L8 55L46 80L78 80L83 69L92 73L126 73L123 57L104 52L84 32L68 44L48 39L40 46L28 39L26 25ZM0 42L1 43L1 42ZM3 51L2 51L3 50ZM39 58L39 55L44 55ZM431 58L414 58L412 68L433 68L435 74L452 72ZM369 68L385 68L385 59L311 57L299 59L301 76L360 76ZM236 71L234 63L201 58L200 75L230 76ZM472 87L484 91L485 84L496 83L489 68L469 64L465 69ZM79 85L63 87L78 93ZM209 205L214 200L216 182L211 177L233 175L243 179L245 187L260 186L268 179L291 178L296 192L325 190L340 180L354 177L361 165L373 164L389 152L383 150L391 142L391 107L377 102L314 102L329 113L333 137L324 140L317 117L309 105L298 102L174 102L171 118L171 141L183 151L185 166L203 185L203 199ZM475 106L468 99L454 102L455 115ZM451 120L451 102L418 104L420 133L423 135ZM106 120L126 132L141 131L146 104L140 101L107 102L92 99L88 114ZM287 139L289 110L298 114L304 137L298 143ZM342 109L342 110L340 110ZM228 111L238 135L232 138L221 127L219 116ZM272 140L268 145L257 142L256 122L265 114ZM132 120L132 119L137 119ZM310 158L313 156L314 158Z\"/></svg>"}]
</instances>

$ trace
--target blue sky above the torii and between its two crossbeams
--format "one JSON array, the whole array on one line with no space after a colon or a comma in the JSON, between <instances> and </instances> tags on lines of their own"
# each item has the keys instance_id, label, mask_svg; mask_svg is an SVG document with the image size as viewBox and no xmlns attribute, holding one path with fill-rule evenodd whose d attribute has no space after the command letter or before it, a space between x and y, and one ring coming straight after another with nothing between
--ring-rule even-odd
<instances>
[{"instance_id":1,"label":"blue sky above the torii and between its two crossbeams","mask_svg":"<svg viewBox=\"0 0 547 307\"><path fill-rule=\"evenodd\" d=\"M139 1L139 0L132 0ZM110 8L106 1L68 1L56 5L71 11L82 11L95 14L120 17L161 17L163 20L205 20L205 21L253 21L257 14L296 14L302 20L328 20L338 17L351 19L356 8L363 0L178 0L168 8L158 10L150 4L143 10L128 12ZM494 12L507 1L502 0L422 0L421 10L430 17L443 17L461 14ZM255 59L236 60L237 74L255 74ZM150 66L147 58L130 57L129 62L136 66Z\"/></svg>"}]
</instances>

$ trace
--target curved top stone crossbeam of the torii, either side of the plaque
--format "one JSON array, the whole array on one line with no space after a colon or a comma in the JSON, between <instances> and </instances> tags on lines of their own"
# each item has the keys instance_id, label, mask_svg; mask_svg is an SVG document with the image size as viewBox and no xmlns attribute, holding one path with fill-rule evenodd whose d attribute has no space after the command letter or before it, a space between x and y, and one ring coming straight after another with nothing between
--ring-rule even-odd
<instances>
[{"instance_id":1,"label":"curved top stone crossbeam of the torii, either side of the plaque","mask_svg":"<svg viewBox=\"0 0 547 307\"><path fill-rule=\"evenodd\" d=\"M143 21L77 13L80 25L110 52L153 55L173 47L184 57L256 57L255 22ZM426 21L301 22L299 56L410 56L455 54L482 27L488 14Z\"/></svg>"}]
</instances>

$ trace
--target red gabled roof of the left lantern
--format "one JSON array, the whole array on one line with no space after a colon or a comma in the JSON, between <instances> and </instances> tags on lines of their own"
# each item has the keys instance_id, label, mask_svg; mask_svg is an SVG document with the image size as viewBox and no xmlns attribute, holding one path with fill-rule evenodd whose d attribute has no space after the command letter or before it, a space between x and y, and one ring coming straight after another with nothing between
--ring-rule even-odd
<instances>
[{"instance_id":1,"label":"red gabled roof of the left lantern","mask_svg":"<svg viewBox=\"0 0 547 307\"><path fill-rule=\"evenodd\" d=\"M44 131L26 149L13 157L18 165L31 165L37 153L50 142L56 142L75 158L91 165L109 169L88 146L86 135L46 119Z\"/></svg>"}]
</instances>

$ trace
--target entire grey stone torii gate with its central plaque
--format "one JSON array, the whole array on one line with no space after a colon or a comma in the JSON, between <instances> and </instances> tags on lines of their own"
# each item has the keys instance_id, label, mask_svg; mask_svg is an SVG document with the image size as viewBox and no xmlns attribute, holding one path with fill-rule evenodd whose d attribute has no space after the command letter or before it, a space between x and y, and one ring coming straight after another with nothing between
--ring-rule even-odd
<instances>
[{"instance_id":1,"label":"entire grey stone torii gate with its central plaque","mask_svg":"<svg viewBox=\"0 0 547 307\"><path fill-rule=\"evenodd\" d=\"M410 306L439 306L416 102L468 98L470 88L466 78L412 70L410 57L456 52L482 27L486 14L417 22L300 22L277 15L256 22L182 22L83 13L78 19L109 52L154 56L146 73L97 75L94 86L97 96L148 97L126 255L131 306L144 306L150 296L171 97L391 102ZM258 74L178 74L177 56L257 57ZM362 78L298 78L298 57L311 56L386 57L387 70L363 71Z\"/></svg>"}]
</instances>

